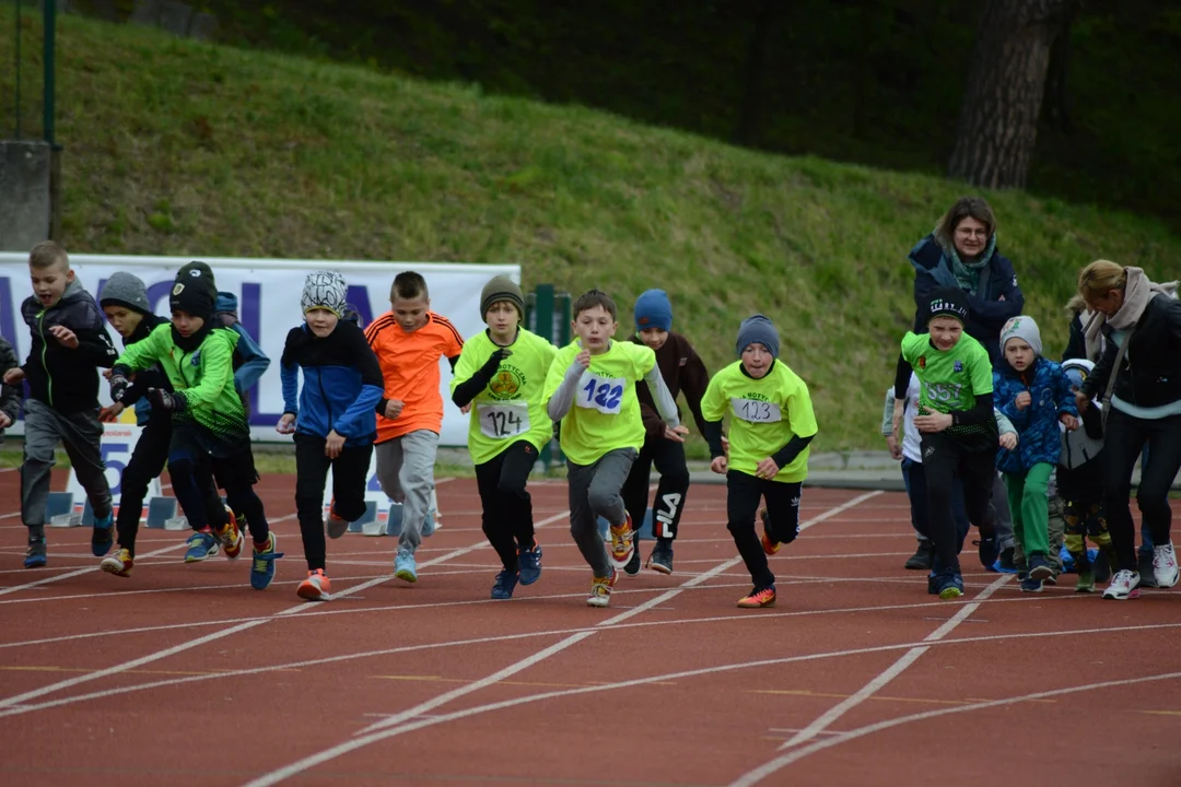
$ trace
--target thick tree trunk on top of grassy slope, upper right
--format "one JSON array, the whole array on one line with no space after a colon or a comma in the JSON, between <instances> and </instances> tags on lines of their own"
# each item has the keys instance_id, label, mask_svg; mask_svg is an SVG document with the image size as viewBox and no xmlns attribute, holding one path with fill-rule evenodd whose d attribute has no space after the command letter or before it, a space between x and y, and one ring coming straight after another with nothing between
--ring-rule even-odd
<instances>
[{"instance_id":1,"label":"thick tree trunk on top of grassy slope, upper right","mask_svg":"<svg viewBox=\"0 0 1181 787\"><path fill-rule=\"evenodd\" d=\"M1024 188L1037 142L1050 48L1071 0L987 0L947 173Z\"/></svg>"}]
</instances>

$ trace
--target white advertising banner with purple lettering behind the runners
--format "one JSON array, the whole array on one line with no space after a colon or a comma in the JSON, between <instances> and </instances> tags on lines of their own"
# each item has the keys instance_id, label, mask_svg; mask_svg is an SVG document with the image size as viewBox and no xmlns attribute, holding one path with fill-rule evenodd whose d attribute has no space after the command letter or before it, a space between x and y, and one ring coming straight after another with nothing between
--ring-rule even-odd
<instances>
[{"instance_id":1,"label":"white advertising banner with purple lettering behind the runners","mask_svg":"<svg viewBox=\"0 0 1181 787\"><path fill-rule=\"evenodd\" d=\"M217 289L237 297L237 315L242 327L254 337L262 352L270 358L270 367L248 395L250 425L255 440L289 442L291 437L278 434L275 422L282 415L283 398L279 380L279 359L287 332L302 320L300 293L304 277L313 270L339 271L348 282L348 301L360 313L364 324L390 309L390 284L404 270L416 270L426 278L431 310L450 320L459 333L471 336L484 329L479 315L479 294L489 278L497 275L521 281L516 264L348 262L329 260L240 260L200 257L214 270ZM111 274L125 270L148 286L148 299L155 311L168 316L168 294L176 271L193 257L138 257L119 255L70 255L71 264L83 286L98 299L103 283ZM24 361L30 350L30 332L20 316L21 302L32 294L28 281L28 256L0 254L0 335L17 349ZM116 347L122 340L113 328L107 328ZM443 432L439 444L466 445L468 418L451 404L449 386L451 370L445 359L442 369ZM109 404L106 386L102 386L103 404ZM21 434L24 424L18 421L13 434Z\"/></svg>"}]
</instances>

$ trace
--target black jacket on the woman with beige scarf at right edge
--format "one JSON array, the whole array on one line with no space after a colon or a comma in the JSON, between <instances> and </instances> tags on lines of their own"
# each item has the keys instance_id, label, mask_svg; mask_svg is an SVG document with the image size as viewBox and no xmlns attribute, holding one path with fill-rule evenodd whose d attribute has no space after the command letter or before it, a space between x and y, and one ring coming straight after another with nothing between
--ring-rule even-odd
<instances>
[{"instance_id":1,"label":"black jacket on the woman with beige scarf at right edge","mask_svg":"<svg viewBox=\"0 0 1181 787\"><path fill-rule=\"evenodd\" d=\"M1111 374L1114 395L1137 407L1160 407L1181 400L1181 301L1155 295L1130 334L1124 337L1128 349L1118 369L1115 356L1120 348L1111 340L1111 326L1103 326L1107 349L1095 370L1083 382L1089 396L1102 396Z\"/></svg>"}]
</instances>

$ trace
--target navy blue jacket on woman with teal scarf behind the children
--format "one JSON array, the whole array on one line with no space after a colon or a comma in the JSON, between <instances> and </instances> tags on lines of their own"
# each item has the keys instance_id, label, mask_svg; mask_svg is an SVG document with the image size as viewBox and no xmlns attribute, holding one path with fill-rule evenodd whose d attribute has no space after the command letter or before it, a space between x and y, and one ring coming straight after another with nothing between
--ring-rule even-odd
<instances>
[{"instance_id":1,"label":"navy blue jacket on woman with teal scarf behind the children","mask_svg":"<svg viewBox=\"0 0 1181 787\"><path fill-rule=\"evenodd\" d=\"M935 242L933 235L919 241L911 249L911 264L914 265L914 333L927 333L931 294L940 287L959 287L955 273L952 270L951 257ZM993 249L988 264L980 270L980 284L976 295L965 293L967 297L967 323L964 330L988 350L992 365L1000 361L1000 329L1010 317L1016 317L1025 308L1025 296L1017 286L1017 274L1013 263ZM1000 300L1004 297L1005 300Z\"/></svg>"}]
</instances>

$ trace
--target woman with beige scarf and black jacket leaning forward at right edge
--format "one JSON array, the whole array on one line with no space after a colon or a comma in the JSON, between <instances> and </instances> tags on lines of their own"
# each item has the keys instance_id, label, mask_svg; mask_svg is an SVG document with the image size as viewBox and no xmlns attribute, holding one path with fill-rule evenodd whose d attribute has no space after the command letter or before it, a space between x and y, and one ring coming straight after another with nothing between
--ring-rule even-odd
<instances>
[{"instance_id":1,"label":"woman with beige scarf and black jacket leaning forward at right edge","mask_svg":"<svg viewBox=\"0 0 1181 787\"><path fill-rule=\"evenodd\" d=\"M1153 573L1159 588L1177 583L1169 539L1169 486L1181 470L1181 302L1176 282L1155 284L1140 268L1098 260L1078 275L1078 294L1094 314L1084 328L1088 347L1104 349L1076 394L1079 409L1101 395L1104 415L1103 503L1120 571L1103 598L1138 595L1136 533L1131 520L1131 471L1144 446L1151 461L1141 468L1136 504L1153 537Z\"/></svg>"}]
</instances>

